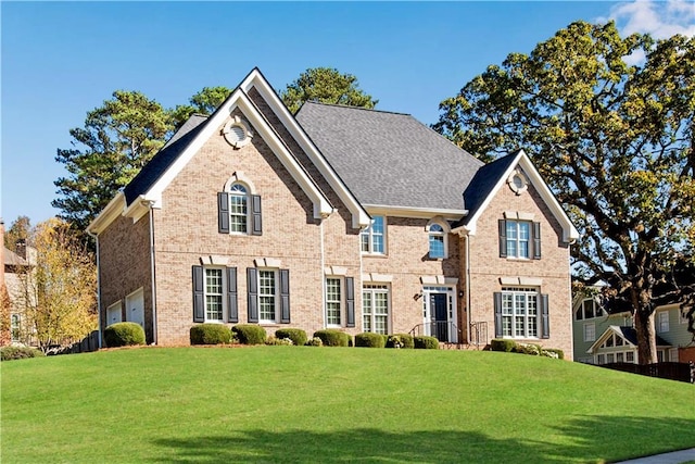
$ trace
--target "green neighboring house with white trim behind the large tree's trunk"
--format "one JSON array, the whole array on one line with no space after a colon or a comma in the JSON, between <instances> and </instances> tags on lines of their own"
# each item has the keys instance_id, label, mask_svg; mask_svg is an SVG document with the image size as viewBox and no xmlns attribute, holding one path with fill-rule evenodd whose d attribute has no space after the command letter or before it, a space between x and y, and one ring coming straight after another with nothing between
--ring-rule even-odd
<instances>
[{"instance_id":1,"label":"green neighboring house with white trim behind the large tree's trunk","mask_svg":"<svg viewBox=\"0 0 695 464\"><path fill-rule=\"evenodd\" d=\"M678 304L655 311L659 362L695 362L693 335ZM637 336L629 312L607 314L596 298L574 303L574 361L589 364L637 363Z\"/></svg>"}]
</instances>

